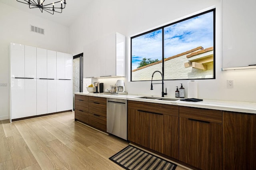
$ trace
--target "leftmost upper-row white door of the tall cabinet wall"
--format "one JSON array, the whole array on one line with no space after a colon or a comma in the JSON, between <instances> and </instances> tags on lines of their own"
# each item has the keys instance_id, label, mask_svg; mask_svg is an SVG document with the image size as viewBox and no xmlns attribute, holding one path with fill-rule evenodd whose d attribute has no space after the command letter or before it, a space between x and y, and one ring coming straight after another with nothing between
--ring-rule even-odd
<instances>
[{"instance_id":1,"label":"leftmost upper-row white door of the tall cabinet wall","mask_svg":"<svg viewBox=\"0 0 256 170\"><path fill-rule=\"evenodd\" d=\"M11 77L25 77L25 46L10 44Z\"/></svg>"}]
</instances>

